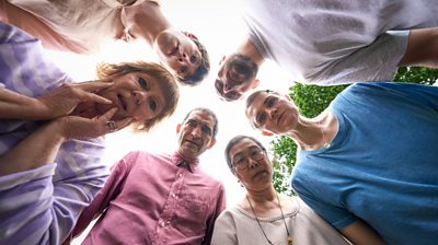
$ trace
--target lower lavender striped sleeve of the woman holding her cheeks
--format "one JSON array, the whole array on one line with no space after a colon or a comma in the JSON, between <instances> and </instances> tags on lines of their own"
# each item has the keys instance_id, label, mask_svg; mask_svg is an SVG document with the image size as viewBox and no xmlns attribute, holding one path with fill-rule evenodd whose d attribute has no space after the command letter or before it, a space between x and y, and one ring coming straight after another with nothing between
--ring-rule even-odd
<instances>
[{"instance_id":1,"label":"lower lavender striped sleeve of the woman holding her cheeks","mask_svg":"<svg viewBox=\"0 0 438 245\"><path fill-rule=\"evenodd\" d=\"M60 244L102 188L102 145L69 142L55 163L0 178L0 244Z\"/></svg>"}]
</instances>

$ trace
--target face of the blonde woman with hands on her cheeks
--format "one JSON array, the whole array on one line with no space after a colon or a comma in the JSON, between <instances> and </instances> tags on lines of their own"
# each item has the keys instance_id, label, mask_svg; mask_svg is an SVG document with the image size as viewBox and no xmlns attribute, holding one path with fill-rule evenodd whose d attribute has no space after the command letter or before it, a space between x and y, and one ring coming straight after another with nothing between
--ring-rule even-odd
<instances>
[{"instance_id":1,"label":"face of the blonde woman with hands on her cheeks","mask_svg":"<svg viewBox=\"0 0 438 245\"><path fill-rule=\"evenodd\" d=\"M113 119L132 117L136 121L146 121L163 110L164 92L153 77L132 72L117 77L113 82L113 86L99 93L113 102L111 105L97 104L100 114L117 107L118 110Z\"/></svg>"}]
</instances>

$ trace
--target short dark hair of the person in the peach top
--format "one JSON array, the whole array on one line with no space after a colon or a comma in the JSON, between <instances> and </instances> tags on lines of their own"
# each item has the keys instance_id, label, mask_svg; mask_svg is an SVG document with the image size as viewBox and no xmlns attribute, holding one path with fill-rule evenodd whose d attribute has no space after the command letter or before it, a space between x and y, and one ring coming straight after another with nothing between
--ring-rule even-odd
<instances>
[{"instance_id":1,"label":"short dark hair of the person in the peach top","mask_svg":"<svg viewBox=\"0 0 438 245\"><path fill-rule=\"evenodd\" d=\"M193 35L192 33L183 32L188 38L195 43L196 47L200 52L200 65L198 69L189 77L183 79L180 78L178 80L186 85L197 85L199 84L205 77L210 72L210 58L208 56L207 49L205 46L199 42L199 39Z\"/></svg>"}]
</instances>

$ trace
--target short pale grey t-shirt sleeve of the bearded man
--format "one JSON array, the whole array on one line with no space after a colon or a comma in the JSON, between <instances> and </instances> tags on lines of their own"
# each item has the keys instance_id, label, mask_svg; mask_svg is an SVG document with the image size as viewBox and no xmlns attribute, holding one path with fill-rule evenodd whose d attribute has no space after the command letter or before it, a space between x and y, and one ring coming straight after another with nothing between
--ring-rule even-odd
<instances>
[{"instance_id":1,"label":"short pale grey t-shirt sleeve of the bearded man","mask_svg":"<svg viewBox=\"0 0 438 245\"><path fill-rule=\"evenodd\" d=\"M326 62L320 72L306 74L304 79L321 85L391 81L406 51L407 35L408 31L381 34L372 44Z\"/></svg>"}]
</instances>

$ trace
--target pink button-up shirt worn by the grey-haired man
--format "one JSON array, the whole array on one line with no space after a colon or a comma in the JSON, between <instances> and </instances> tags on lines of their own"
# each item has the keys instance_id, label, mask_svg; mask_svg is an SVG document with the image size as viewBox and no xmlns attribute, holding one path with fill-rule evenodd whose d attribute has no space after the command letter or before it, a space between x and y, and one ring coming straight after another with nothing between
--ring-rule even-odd
<instances>
[{"instance_id":1,"label":"pink button-up shirt worn by the grey-haired man","mask_svg":"<svg viewBox=\"0 0 438 245\"><path fill-rule=\"evenodd\" d=\"M102 213L83 244L210 244L224 189L182 158L131 152L116 163L105 187L82 212L81 233Z\"/></svg>"}]
</instances>

